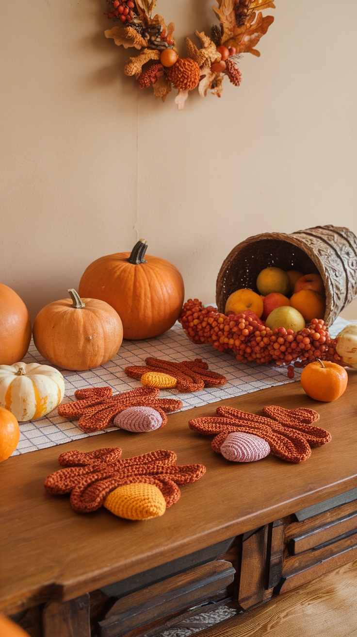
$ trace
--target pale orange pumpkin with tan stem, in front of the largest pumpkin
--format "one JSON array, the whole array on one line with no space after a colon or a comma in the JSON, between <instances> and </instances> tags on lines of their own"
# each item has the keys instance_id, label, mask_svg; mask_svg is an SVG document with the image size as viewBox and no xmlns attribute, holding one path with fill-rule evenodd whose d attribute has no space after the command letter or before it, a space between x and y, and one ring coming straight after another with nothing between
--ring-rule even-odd
<instances>
[{"instance_id":1,"label":"pale orange pumpkin with tan stem, in front of the largest pumpkin","mask_svg":"<svg viewBox=\"0 0 357 637\"><path fill-rule=\"evenodd\" d=\"M118 313L104 301L71 299L49 303L34 320L34 344L47 361L64 369L93 369L110 361L123 340Z\"/></svg>"}]
</instances>

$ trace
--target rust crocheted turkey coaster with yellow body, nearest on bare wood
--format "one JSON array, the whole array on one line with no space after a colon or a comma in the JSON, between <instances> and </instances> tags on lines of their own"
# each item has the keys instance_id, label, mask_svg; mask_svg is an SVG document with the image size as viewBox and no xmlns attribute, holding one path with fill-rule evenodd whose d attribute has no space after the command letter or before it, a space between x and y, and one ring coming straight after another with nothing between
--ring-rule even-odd
<instances>
[{"instance_id":1,"label":"rust crocheted turkey coaster with yellow body, nearest on bare wood","mask_svg":"<svg viewBox=\"0 0 357 637\"><path fill-rule=\"evenodd\" d=\"M164 449L124 459L121 455L118 447L64 452L59 456L64 469L51 473L45 488L50 494L70 493L77 513L104 506L127 520L147 520L178 501L178 485L195 482L206 472L203 464L176 465L176 454Z\"/></svg>"}]
</instances>

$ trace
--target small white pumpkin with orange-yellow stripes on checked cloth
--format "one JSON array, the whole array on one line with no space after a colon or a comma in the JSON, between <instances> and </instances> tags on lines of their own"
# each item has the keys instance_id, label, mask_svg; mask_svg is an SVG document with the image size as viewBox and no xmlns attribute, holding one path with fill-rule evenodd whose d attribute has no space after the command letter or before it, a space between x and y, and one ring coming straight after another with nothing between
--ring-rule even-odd
<instances>
[{"instance_id":1,"label":"small white pumpkin with orange-yellow stripes on checked cloth","mask_svg":"<svg viewBox=\"0 0 357 637\"><path fill-rule=\"evenodd\" d=\"M0 406L17 420L35 420L52 412L64 397L58 369L36 362L0 365Z\"/></svg>"}]
</instances>

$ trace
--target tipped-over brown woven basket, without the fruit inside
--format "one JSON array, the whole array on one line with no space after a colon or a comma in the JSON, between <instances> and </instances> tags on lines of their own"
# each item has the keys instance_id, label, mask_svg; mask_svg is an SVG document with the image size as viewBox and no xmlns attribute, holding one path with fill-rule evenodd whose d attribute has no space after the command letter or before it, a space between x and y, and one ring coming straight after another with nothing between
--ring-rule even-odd
<instances>
[{"instance_id":1,"label":"tipped-over brown woven basket, without the fruit inside","mask_svg":"<svg viewBox=\"0 0 357 637\"><path fill-rule=\"evenodd\" d=\"M256 234L236 245L218 273L218 310L224 313L235 290L258 292L256 277L269 266L322 276L327 325L357 296L357 237L348 228L319 225L292 234Z\"/></svg>"}]
</instances>

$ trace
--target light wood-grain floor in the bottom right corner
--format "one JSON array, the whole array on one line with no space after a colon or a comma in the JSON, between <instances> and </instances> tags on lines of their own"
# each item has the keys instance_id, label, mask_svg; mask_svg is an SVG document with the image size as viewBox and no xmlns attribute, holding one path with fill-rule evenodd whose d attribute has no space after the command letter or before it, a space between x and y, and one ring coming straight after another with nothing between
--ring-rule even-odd
<instances>
[{"instance_id":1,"label":"light wood-grain floor in the bottom right corner","mask_svg":"<svg viewBox=\"0 0 357 637\"><path fill-rule=\"evenodd\" d=\"M237 615L199 637L357 637L357 562Z\"/></svg>"}]
</instances>

